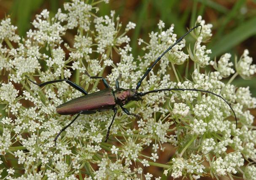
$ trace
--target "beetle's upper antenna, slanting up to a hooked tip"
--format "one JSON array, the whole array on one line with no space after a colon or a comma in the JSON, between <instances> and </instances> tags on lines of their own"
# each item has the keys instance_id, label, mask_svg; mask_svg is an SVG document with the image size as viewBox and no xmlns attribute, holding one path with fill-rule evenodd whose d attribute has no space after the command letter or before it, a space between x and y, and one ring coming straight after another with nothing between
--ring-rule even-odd
<instances>
[{"instance_id":1,"label":"beetle's upper antenna, slanting up to a hooked tip","mask_svg":"<svg viewBox=\"0 0 256 180\"><path fill-rule=\"evenodd\" d=\"M163 54L161 54L161 56L159 56L156 61L154 62L154 64L151 65L151 67L148 68L148 70L146 71L146 73L143 75L143 77L140 79L140 81L137 83L137 86L136 86L136 90L139 89L140 85L141 85L141 82L143 81L144 78L146 78L146 76L148 75L148 73L152 70L152 68L156 65L157 62L160 61L160 59L162 58L162 56L164 56L164 54L166 54L168 51L170 51L173 46L175 46L176 44L178 44L179 42L181 42L181 40L186 36L188 35L191 31L193 31L194 29L196 29L197 27L201 27L200 29L200 33L201 33L201 30L202 30L202 25L200 24L197 24L195 27L192 27L188 32L186 32L186 34L184 34L183 36L181 36L181 38L179 38L178 40L176 40L176 42L174 44L172 44L172 46L170 46L167 50L165 50L163 52Z\"/></svg>"}]
</instances>

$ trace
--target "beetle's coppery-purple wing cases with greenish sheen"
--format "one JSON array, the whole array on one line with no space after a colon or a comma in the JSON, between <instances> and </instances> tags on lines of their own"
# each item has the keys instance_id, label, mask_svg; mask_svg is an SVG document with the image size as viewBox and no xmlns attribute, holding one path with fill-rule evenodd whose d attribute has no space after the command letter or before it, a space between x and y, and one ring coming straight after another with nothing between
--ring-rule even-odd
<instances>
[{"instance_id":1,"label":"beetle's coppery-purple wing cases with greenish sheen","mask_svg":"<svg viewBox=\"0 0 256 180\"><path fill-rule=\"evenodd\" d=\"M112 88L106 88L92 94L72 99L57 107L57 113L72 115L84 111L102 111L115 107L116 101Z\"/></svg>"}]
</instances>

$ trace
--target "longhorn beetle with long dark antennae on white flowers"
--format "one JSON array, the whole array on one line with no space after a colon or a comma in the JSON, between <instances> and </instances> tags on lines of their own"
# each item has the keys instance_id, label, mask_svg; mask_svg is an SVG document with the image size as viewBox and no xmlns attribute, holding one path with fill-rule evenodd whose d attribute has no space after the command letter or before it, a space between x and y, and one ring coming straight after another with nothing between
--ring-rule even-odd
<instances>
[{"instance_id":1,"label":"longhorn beetle with long dark antennae on white flowers","mask_svg":"<svg viewBox=\"0 0 256 180\"><path fill-rule=\"evenodd\" d=\"M104 111L104 110L112 109L114 111L114 116L112 118L112 121L111 121L111 123L110 123L110 125L108 127L108 132L106 134L105 142L107 142L111 126L113 124L113 121L114 121L116 113L117 113L116 105L119 105L121 107L121 109L124 111L124 113L126 113L128 115L139 117L139 115L130 113L129 110L127 110L123 106L126 105L130 101L142 100L142 97L145 96L146 94L160 92L160 91L200 91L200 92L203 92L203 93L213 94L213 95L223 99L224 102L226 102L229 105L229 107L231 108L231 110L234 113L234 110L232 109L232 107L229 104L229 102L226 101L226 99L221 97L221 95L215 94L215 93L213 93L211 91L206 91L206 90L201 90L201 89L181 89L181 88L156 89L156 90L148 91L148 92L144 92L144 93L137 91L140 88L140 85L141 85L141 82L143 81L143 79L146 78L148 73L152 70L152 68L156 65L156 63L160 61L160 59L164 56L164 54L166 54L168 51L170 51L173 46L175 46L176 44L181 42L181 40L186 35L188 35L191 31L193 31L195 28L197 28L199 26L201 27L201 30L202 30L202 26L201 25L197 25L197 26L191 28L188 32L186 32L186 34L181 36L181 38L179 38L172 46L167 48L167 50L165 50L161 54L161 56L159 56L156 59L156 61L148 68L146 73L143 75L143 77L137 83L136 89L122 89L122 88L119 87L118 80L116 80L116 90L113 90L108 85L108 82L105 80L105 78L99 77L99 76L90 76L87 72L86 72L86 74L89 76L89 78L101 79L103 84L105 85L106 89L101 90L101 91L97 91L97 92L94 92L94 93L91 93L91 94L88 94L88 92L86 90L84 90L81 86L79 86L79 85L77 85L77 84L75 84L72 81L69 81L67 79L59 79L59 80L54 80L54 81L47 81L45 83L38 84L38 83L30 80L30 78L26 76L30 82L32 82L32 83L34 83L34 84L36 84L36 85L38 85L40 87L45 86L47 84L51 84L51 83L57 83L57 82L65 81L70 86L72 86L73 88L77 89L78 91L80 91L80 92L82 92L84 94L84 96L82 96L82 97L78 97L78 98L72 99L72 100L70 100L68 102L65 102L62 105L59 105L57 107L57 113L59 113L60 115L74 115L74 114L77 114L77 115L75 116L73 121L71 121L67 126L65 126L57 134L57 136L54 139L55 146L56 146L56 140L59 137L59 135L63 131L65 131L65 129L67 129L67 127L69 127L71 124L73 124L73 122L78 118L78 116L80 114L93 114L93 113L96 113L96 112L99 112L99 111ZM201 32L201 30L200 30L200 32ZM236 117L235 113L234 113L234 117L235 117L236 125L237 125L237 117Z\"/></svg>"}]
</instances>

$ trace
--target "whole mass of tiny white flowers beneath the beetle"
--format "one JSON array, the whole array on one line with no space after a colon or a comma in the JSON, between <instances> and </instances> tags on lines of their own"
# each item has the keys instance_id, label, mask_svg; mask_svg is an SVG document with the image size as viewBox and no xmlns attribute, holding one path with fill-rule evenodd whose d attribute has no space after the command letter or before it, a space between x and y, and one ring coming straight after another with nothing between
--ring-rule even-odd
<instances>
[{"instance_id":1,"label":"whole mass of tiny white flowers beneath the beetle","mask_svg":"<svg viewBox=\"0 0 256 180\"><path fill-rule=\"evenodd\" d=\"M38 83L70 78L89 93L99 91L97 87L102 83L90 75L104 76L110 87L115 87L118 80L120 88L135 89L148 67L178 39L174 25L166 28L160 20L149 40L139 39L145 53L136 59L127 35L136 24L122 26L115 11L98 16L97 5L101 2L108 0L72 0L65 3L65 11L59 9L52 18L49 11L43 10L22 40L9 18L1 20L0 75L7 74L8 80L3 78L0 85L0 104L4 108L0 114L0 164L7 164L0 169L0 178L159 180L157 171L148 172L148 167L159 167L164 169L164 175L173 178L243 174L245 179L253 179L255 166L244 164L245 160L256 159L256 128L249 110L256 107L256 98L251 96L249 87L237 87L232 81L237 75L249 78L256 68L247 50L235 63L236 72L228 53L218 62L210 62L211 50L204 43L212 36L212 25L201 16L197 18L201 33L200 27L191 33L194 50L189 48L189 55L185 53L186 41L182 40L162 57L138 91L211 91L231 105L237 127L229 105L214 94L161 91L124 106L130 113L140 115L136 118L118 110L108 142L104 142L105 134L113 112L100 111L80 115L54 145L59 131L74 119L57 115L56 107L84 94L65 82L38 87L26 76ZM67 31L75 32L73 40L65 37ZM194 61L194 71L183 78L178 65L187 60ZM203 68L209 62L216 71ZM108 75L106 67L112 68ZM222 82L232 74L227 83ZM165 163L162 159L170 148L176 153ZM4 161L10 156L15 157L19 167L8 167Z\"/></svg>"}]
</instances>

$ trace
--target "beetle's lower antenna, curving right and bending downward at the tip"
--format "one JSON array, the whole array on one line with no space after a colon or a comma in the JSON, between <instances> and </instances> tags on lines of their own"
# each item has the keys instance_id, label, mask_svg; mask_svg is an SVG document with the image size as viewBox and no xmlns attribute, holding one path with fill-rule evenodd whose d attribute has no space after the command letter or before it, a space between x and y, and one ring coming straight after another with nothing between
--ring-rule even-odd
<instances>
[{"instance_id":1,"label":"beetle's lower antenna, curving right and bending downward at the tip","mask_svg":"<svg viewBox=\"0 0 256 180\"><path fill-rule=\"evenodd\" d=\"M231 107L231 105L229 104L229 102L227 102L226 99L224 99L221 95L213 93L211 91L206 91L206 90L201 90L201 89L182 89L182 88L170 88L170 89L155 89L152 91L148 91L148 92L140 92L139 95L140 96L145 96L146 94L150 94L150 93L154 93L154 92L161 92L161 91L199 91L199 92L204 92L204 93L209 93L209 94L213 94L214 96L220 97L222 100L224 100L224 102L226 102L227 105L229 105L230 109L232 110L232 112L234 113L233 108ZM236 128L237 128L237 116L234 113L234 118L236 120Z\"/></svg>"}]
</instances>

